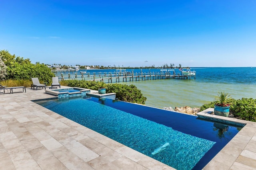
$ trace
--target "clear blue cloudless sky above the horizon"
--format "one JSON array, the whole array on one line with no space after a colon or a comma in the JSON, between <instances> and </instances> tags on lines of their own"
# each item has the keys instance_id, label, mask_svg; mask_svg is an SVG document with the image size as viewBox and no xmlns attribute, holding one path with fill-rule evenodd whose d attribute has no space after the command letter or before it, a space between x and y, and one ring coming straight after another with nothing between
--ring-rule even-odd
<instances>
[{"instance_id":1,"label":"clear blue cloudless sky above the horizon","mask_svg":"<svg viewBox=\"0 0 256 170\"><path fill-rule=\"evenodd\" d=\"M256 66L256 0L0 0L3 49L45 64Z\"/></svg>"}]
</instances>

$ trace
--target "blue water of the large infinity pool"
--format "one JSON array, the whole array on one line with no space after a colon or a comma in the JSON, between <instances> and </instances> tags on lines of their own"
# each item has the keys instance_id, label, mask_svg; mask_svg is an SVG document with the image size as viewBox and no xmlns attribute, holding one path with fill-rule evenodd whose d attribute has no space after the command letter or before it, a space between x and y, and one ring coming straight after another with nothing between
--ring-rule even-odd
<instances>
[{"instance_id":1,"label":"blue water of the large infinity pool","mask_svg":"<svg viewBox=\"0 0 256 170\"><path fill-rule=\"evenodd\" d=\"M240 129L88 96L36 103L178 170L202 169Z\"/></svg>"}]
</instances>

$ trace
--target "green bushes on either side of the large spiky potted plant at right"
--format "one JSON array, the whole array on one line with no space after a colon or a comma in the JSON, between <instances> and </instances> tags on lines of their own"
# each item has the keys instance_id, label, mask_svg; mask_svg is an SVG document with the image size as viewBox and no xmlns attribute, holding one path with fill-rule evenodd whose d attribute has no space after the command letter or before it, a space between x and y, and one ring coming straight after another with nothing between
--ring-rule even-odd
<instances>
[{"instance_id":1,"label":"green bushes on either side of the large spiky potted plant at right","mask_svg":"<svg viewBox=\"0 0 256 170\"><path fill-rule=\"evenodd\" d=\"M204 104L200 107L200 111L203 111L208 108L214 108L215 104L215 101L209 104ZM256 122L256 99L233 99L230 102L230 113L232 113L234 117L238 119Z\"/></svg>"}]
</instances>

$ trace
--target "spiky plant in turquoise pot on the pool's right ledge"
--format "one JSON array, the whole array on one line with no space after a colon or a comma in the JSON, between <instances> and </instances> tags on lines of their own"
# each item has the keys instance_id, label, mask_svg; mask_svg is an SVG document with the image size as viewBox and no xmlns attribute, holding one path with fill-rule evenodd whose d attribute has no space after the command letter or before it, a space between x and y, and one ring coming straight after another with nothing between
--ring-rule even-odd
<instances>
[{"instance_id":1,"label":"spiky plant in turquoise pot on the pool's right ledge","mask_svg":"<svg viewBox=\"0 0 256 170\"><path fill-rule=\"evenodd\" d=\"M218 96L214 99L214 115L226 116L229 115L230 103L232 97L228 93L219 92Z\"/></svg>"}]
</instances>

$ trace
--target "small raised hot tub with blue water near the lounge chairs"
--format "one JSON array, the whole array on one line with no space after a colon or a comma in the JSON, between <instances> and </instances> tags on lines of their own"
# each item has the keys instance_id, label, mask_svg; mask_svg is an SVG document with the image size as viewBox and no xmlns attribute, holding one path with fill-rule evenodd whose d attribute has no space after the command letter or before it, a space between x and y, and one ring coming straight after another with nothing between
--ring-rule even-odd
<instances>
[{"instance_id":1,"label":"small raised hot tub with blue water near the lounge chairs","mask_svg":"<svg viewBox=\"0 0 256 170\"><path fill-rule=\"evenodd\" d=\"M60 89L46 89L47 94L52 94L58 96L58 98L72 97L72 96L82 96L90 92L90 89L72 87L72 88L60 88Z\"/></svg>"}]
</instances>

